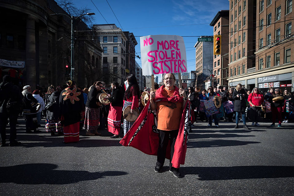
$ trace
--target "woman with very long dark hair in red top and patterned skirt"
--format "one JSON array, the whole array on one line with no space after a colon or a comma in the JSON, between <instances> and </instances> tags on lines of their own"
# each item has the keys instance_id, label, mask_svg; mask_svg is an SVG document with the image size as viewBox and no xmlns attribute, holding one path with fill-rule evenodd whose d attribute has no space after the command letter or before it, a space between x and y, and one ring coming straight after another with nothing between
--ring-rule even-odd
<instances>
[{"instance_id":1,"label":"woman with very long dark hair in red top and patterned skirt","mask_svg":"<svg viewBox=\"0 0 294 196\"><path fill-rule=\"evenodd\" d=\"M134 109L139 107L139 98L140 98L140 90L137 82L137 78L130 74L126 77L128 88L126 89L124 100L125 103L123 105L123 110L127 106L131 106L131 113L133 113ZM123 135L130 130L134 122L129 122L126 119L123 120Z\"/></svg>"}]
</instances>

